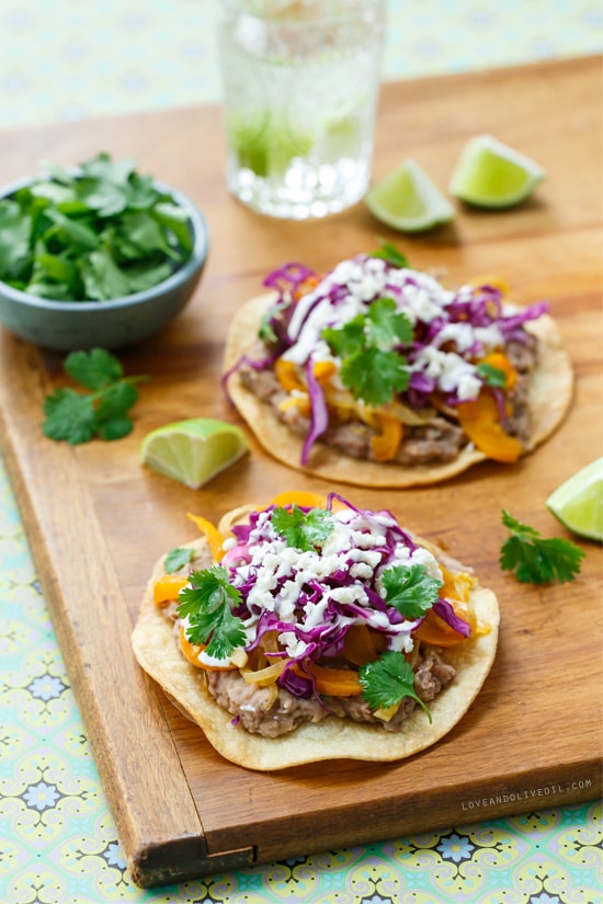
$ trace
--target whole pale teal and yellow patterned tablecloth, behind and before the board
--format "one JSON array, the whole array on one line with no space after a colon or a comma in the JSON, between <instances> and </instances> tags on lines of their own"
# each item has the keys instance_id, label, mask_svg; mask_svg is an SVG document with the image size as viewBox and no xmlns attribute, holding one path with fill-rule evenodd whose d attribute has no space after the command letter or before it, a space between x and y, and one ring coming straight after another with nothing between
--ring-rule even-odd
<instances>
[{"instance_id":1,"label":"whole pale teal and yellow patterned tablecloth, behind and before the board","mask_svg":"<svg viewBox=\"0 0 603 904\"><path fill-rule=\"evenodd\" d=\"M219 98L215 0L2 0L0 128ZM434 27L437 22L437 28ZM601 48L588 0L390 0L386 78ZM0 459L1 904L598 904L601 805L538 810L155 891L125 870ZM544 809L543 809L544 808Z\"/></svg>"}]
</instances>

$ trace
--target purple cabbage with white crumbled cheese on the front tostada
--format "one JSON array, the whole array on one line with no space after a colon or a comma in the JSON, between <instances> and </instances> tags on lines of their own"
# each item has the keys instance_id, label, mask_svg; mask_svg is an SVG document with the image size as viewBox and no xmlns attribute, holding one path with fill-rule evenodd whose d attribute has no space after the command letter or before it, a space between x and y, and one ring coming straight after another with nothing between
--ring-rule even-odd
<instances>
[{"instance_id":1,"label":"purple cabbage with white crumbled cheese on the front tostada","mask_svg":"<svg viewBox=\"0 0 603 904\"><path fill-rule=\"evenodd\" d=\"M333 508L335 500L344 508ZM277 683L292 694L309 696L314 679L292 668L292 664L303 668L304 662L341 653L354 625L383 632L392 649L399 649L398 643L402 643L401 649L410 649L405 644L412 645L412 633L424 616L405 618L387 602L379 575L391 564L411 563L418 550L421 563L431 553L418 547L391 512L357 507L339 493L329 493L326 508L335 533L329 534L328 551L318 545L303 552L274 527L275 507L252 512L248 525L235 525L236 542L221 560L241 597L234 614L250 628L247 651L263 645L266 633L276 632L280 649L270 652L266 644L264 653L269 660L291 661ZM309 507L297 507L305 514L310 512ZM437 568L435 560L433 567ZM448 600L439 599L433 609L463 637L469 636L469 625L455 614Z\"/></svg>"}]
</instances>

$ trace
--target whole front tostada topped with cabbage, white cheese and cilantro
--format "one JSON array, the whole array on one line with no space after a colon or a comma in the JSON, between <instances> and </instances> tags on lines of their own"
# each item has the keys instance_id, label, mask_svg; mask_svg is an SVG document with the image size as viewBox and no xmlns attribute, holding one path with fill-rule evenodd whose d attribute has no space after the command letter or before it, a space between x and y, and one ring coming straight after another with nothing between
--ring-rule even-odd
<instances>
[{"instance_id":1,"label":"whole front tostada topped with cabbage, white cheese and cilantro","mask_svg":"<svg viewBox=\"0 0 603 904\"><path fill-rule=\"evenodd\" d=\"M133 648L224 757L391 762L467 712L494 660L497 597L389 511L282 494L217 528L193 519L204 536L178 549L180 570L156 564Z\"/></svg>"}]
</instances>

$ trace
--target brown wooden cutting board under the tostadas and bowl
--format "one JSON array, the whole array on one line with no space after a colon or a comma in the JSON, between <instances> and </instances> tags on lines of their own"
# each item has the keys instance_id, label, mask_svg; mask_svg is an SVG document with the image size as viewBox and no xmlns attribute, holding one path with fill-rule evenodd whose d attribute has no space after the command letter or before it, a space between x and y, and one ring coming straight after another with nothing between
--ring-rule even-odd
<instances>
[{"instance_id":1,"label":"brown wooden cutting board under the tostadas and bowl","mask_svg":"<svg viewBox=\"0 0 603 904\"><path fill-rule=\"evenodd\" d=\"M132 156L205 211L212 250L190 307L159 337L120 357L145 374L135 430L113 444L45 439L45 396L61 358L0 331L1 443L70 679L135 882L153 885L436 827L558 806L601 792L601 548L571 584L523 585L500 570L501 507L544 536L566 531L549 493L603 454L601 344L601 60L546 62L384 88L375 176L413 157L443 188L467 138L489 131L539 161L547 182L505 213L460 208L450 227L409 238L366 209L316 224L277 222L226 193L219 110L190 108L0 136L2 180L38 160L75 164L99 150ZM576 369L571 412L514 467L485 464L432 489L335 487L390 507L471 563L498 594L500 646L483 691L437 745L399 764L323 763L255 774L223 760L138 668L129 633L155 560L193 539L185 513L304 485L251 455L192 492L143 469L156 426L192 416L238 422L220 392L229 317L264 275L299 260L318 271L394 240L418 267L455 281L504 277L522 304L548 299Z\"/></svg>"}]
</instances>

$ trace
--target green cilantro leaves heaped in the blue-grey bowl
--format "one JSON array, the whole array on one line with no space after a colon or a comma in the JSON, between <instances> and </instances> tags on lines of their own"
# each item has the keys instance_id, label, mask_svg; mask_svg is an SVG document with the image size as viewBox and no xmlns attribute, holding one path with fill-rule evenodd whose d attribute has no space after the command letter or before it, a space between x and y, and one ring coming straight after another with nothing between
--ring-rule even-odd
<instances>
[{"instance_id":1,"label":"green cilantro leaves heaped in the blue-grey bowl","mask_svg":"<svg viewBox=\"0 0 603 904\"><path fill-rule=\"evenodd\" d=\"M37 298L107 301L145 291L191 256L190 216L134 161L55 164L0 199L0 281Z\"/></svg>"}]
</instances>

